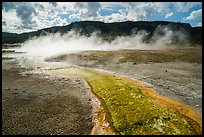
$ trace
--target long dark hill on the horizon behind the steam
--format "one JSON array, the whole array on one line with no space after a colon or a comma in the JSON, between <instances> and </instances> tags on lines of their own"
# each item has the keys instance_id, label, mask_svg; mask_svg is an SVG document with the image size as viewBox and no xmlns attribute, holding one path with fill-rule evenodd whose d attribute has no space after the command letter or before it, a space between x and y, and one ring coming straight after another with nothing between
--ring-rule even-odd
<instances>
[{"instance_id":1,"label":"long dark hill on the horizon behind the steam","mask_svg":"<svg viewBox=\"0 0 204 137\"><path fill-rule=\"evenodd\" d=\"M7 33L2 32L2 44L21 43L30 37L46 35L47 33L61 34L70 30L75 30L81 35L90 36L94 31L100 31L100 36L104 40L111 41L117 36L131 35L133 32L137 33L140 30L145 30L149 35L145 38L144 42L150 42L156 28L158 26L168 27L172 31L180 31L183 34L189 34L191 44L202 44L202 27L191 27L188 23L168 22L168 21L126 21L126 22L113 22L103 23L100 21L80 21L74 22L67 26L55 26L45 28L38 31L28 33ZM162 32L161 34L162 35ZM175 40L175 43L177 41Z\"/></svg>"}]
</instances>

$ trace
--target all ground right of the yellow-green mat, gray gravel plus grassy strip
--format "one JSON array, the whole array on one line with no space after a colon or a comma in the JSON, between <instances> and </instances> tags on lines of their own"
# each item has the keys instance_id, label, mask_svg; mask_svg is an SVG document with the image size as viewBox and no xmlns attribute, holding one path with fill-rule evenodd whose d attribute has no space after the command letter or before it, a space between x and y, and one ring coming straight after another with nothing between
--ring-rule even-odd
<instances>
[{"instance_id":1,"label":"all ground right of the yellow-green mat, gray gravel plus grassy strip","mask_svg":"<svg viewBox=\"0 0 204 137\"><path fill-rule=\"evenodd\" d=\"M84 51L46 59L116 72L152 85L157 93L202 113L202 46L157 50Z\"/></svg>"}]
</instances>

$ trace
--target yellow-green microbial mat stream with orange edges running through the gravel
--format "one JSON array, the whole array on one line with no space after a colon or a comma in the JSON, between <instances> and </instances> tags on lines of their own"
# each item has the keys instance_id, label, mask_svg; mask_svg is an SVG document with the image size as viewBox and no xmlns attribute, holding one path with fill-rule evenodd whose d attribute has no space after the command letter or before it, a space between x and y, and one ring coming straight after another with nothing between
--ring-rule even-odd
<instances>
[{"instance_id":1,"label":"yellow-green microbial mat stream with orange edges running through the gravel","mask_svg":"<svg viewBox=\"0 0 204 137\"><path fill-rule=\"evenodd\" d=\"M81 67L48 70L54 77L88 81L120 134L201 134L201 114L180 103L162 98L140 83L122 76ZM179 109L178 109L179 108ZM110 122L110 123L111 123Z\"/></svg>"}]
</instances>

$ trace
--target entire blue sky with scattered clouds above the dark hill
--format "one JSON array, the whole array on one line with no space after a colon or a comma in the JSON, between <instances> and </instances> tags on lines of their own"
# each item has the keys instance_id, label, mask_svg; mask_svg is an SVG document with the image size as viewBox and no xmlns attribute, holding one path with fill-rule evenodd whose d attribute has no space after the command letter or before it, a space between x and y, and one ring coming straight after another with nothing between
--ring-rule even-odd
<instances>
[{"instance_id":1,"label":"entire blue sky with scattered clouds above the dark hill","mask_svg":"<svg viewBox=\"0 0 204 137\"><path fill-rule=\"evenodd\" d=\"M3 2L2 31L23 33L76 21L173 21L202 26L202 2Z\"/></svg>"}]
</instances>

